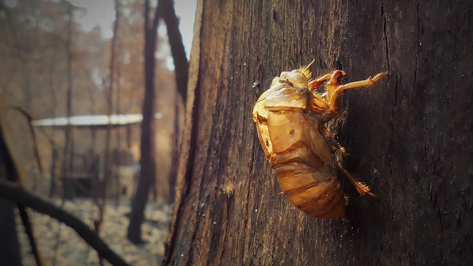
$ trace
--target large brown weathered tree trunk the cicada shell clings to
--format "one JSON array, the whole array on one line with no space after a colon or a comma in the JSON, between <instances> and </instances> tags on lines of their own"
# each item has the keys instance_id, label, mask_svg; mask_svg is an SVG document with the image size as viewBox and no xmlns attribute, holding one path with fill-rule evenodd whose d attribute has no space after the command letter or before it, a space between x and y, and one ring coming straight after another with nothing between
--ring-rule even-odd
<instances>
[{"instance_id":1,"label":"large brown weathered tree trunk the cicada shell clings to","mask_svg":"<svg viewBox=\"0 0 473 266\"><path fill-rule=\"evenodd\" d=\"M165 264L472 264L472 16L466 0L200 0ZM329 124L379 195L343 182L346 220L279 194L251 117L274 76L313 58L343 83L390 73L347 91Z\"/></svg>"}]
</instances>

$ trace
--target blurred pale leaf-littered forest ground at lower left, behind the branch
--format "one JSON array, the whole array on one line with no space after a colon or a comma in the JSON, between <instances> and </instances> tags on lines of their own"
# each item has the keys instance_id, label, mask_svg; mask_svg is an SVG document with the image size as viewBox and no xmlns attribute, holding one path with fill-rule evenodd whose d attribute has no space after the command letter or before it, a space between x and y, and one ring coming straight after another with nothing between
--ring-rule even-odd
<instances>
[{"instance_id":1,"label":"blurred pale leaf-littered forest ground at lower left, behind the branch","mask_svg":"<svg viewBox=\"0 0 473 266\"><path fill-rule=\"evenodd\" d=\"M61 200L53 200L61 206ZM98 208L91 199L78 198L65 200L62 208L79 217L93 227L93 220L98 217ZM104 222L100 236L126 262L134 266L158 266L164 256L164 243L169 230L171 207L167 204L149 202L145 209L145 221L141 227L141 245L133 245L126 238L129 223L130 204L121 201L118 207L114 202L107 202ZM30 212L33 231L39 251L46 265L52 266L95 266L99 265L97 252L88 246L78 234L63 223L57 222L42 213ZM35 258L24 228L17 215L17 228L22 248L23 265L34 266ZM105 265L110 265L105 262Z\"/></svg>"}]
</instances>

